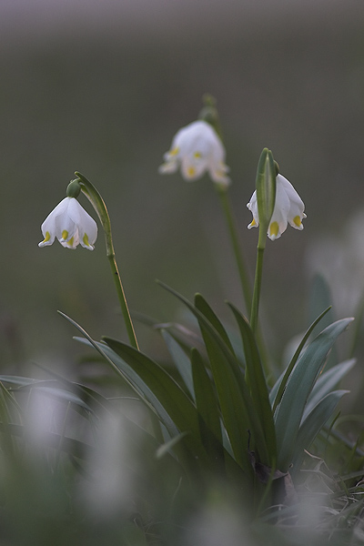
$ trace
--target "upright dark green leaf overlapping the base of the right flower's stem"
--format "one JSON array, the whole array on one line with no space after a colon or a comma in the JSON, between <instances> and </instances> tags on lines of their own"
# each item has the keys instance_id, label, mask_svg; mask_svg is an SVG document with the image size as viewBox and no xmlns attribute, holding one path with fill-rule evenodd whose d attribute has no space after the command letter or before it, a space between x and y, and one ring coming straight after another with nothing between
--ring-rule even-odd
<instances>
[{"instance_id":1,"label":"upright dark green leaf overlapping the base of the right flower's stem","mask_svg":"<svg viewBox=\"0 0 364 546\"><path fill-rule=\"evenodd\" d=\"M260 420L268 447L268 460L266 460L266 463L273 465L273 461L277 460L276 430L269 402L267 381L260 360L257 342L248 320L241 315L238 308L233 304L227 303L227 305L231 308L237 319L244 346L247 366L246 380L250 388L253 407Z\"/></svg>"}]
</instances>

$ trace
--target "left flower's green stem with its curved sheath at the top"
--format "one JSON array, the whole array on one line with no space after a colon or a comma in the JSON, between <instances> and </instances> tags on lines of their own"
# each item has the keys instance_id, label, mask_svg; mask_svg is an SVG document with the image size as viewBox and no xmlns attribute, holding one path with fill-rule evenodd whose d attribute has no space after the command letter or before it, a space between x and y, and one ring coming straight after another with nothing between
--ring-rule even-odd
<instances>
[{"instance_id":1,"label":"left flower's green stem with its curved sheath at the top","mask_svg":"<svg viewBox=\"0 0 364 546\"><path fill-rule=\"evenodd\" d=\"M96 187L94 187L91 182L87 180L86 177L78 172L76 172L75 174L76 177L79 178L82 193L87 197L92 206L95 208L97 216L99 217L101 225L104 229L106 240L106 256L113 273L117 297L119 298L121 312L126 324L126 332L130 341L130 345L135 349L139 349L136 341L136 332L126 303L126 295L124 292L123 283L121 282L120 273L116 264L115 250L111 233L111 223L110 217L108 216L106 204L104 202L104 199L96 190Z\"/></svg>"}]
</instances>

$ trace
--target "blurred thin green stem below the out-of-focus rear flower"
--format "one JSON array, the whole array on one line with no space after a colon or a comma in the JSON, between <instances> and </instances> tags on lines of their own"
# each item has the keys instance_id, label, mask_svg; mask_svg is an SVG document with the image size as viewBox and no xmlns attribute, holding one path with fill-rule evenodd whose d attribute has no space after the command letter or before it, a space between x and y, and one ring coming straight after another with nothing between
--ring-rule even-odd
<instances>
[{"instance_id":1,"label":"blurred thin green stem below the out-of-focus rear flower","mask_svg":"<svg viewBox=\"0 0 364 546\"><path fill-rule=\"evenodd\" d=\"M241 288L243 290L243 296L245 305L247 308L248 315L251 312L251 288L250 288L250 279L248 276L248 270L245 264L245 259L241 250L241 246L239 245L238 240L238 229L236 226L236 222L233 216L233 212L230 206L230 202L227 196L227 187L223 185L216 184L217 188L217 194L220 198L221 206L224 210L224 214L227 220L227 227L231 238L231 243L233 246L235 258L237 260L238 265L238 273L240 277L240 283Z\"/></svg>"}]
</instances>

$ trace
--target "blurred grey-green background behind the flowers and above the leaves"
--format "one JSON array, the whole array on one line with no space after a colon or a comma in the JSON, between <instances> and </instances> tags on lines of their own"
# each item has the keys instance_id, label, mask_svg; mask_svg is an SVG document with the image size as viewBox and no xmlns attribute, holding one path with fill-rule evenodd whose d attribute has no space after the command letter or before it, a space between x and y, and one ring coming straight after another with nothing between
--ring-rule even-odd
<instances>
[{"instance_id":1,"label":"blurred grey-green background behind the flowers and above the leaves","mask_svg":"<svg viewBox=\"0 0 364 546\"><path fill-rule=\"evenodd\" d=\"M56 309L96 339L125 339L102 233L94 252L37 247L75 170L106 200L133 311L183 317L156 278L187 298L200 291L227 320L225 299L242 307L211 182L157 174L206 92L252 272L258 230L246 228L246 203L263 147L305 201L304 231L268 242L262 303L277 352L307 326L307 249L362 207L362 0L9 0L0 31L3 369L74 361L76 332ZM142 348L154 343L136 330Z\"/></svg>"}]
</instances>

